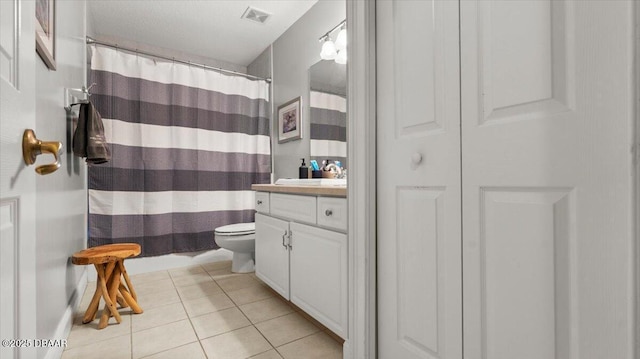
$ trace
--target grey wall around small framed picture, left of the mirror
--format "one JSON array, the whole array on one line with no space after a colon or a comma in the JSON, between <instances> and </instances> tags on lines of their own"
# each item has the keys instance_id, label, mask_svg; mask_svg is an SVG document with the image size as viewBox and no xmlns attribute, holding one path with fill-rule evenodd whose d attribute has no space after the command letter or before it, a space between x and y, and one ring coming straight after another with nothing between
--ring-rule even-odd
<instances>
[{"instance_id":1,"label":"grey wall around small framed picture, left of the mirror","mask_svg":"<svg viewBox=\"0 0 640 359\"><path fill-rule=\"evenodd\" d=\"M302 97L302 139L278 144L272 121L274 178L298 177L300 158L309 163L309 67L320 61L318 38L346 18L345 1L320 0L273 43L273 104Z\"/></svg>"}]
</instances>

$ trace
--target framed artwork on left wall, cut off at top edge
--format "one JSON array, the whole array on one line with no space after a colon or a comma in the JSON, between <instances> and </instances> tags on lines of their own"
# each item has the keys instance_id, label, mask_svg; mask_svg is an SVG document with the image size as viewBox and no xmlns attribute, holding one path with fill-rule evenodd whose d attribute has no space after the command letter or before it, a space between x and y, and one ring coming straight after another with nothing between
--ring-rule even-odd
<instances>
[{"instance_id":1,"label":"framed artwork on left wall, cut off at top edge","mask_svg":"<svg viewBox=\"0 0 640 359\"><path fill-rule=\"evenodd\" d=\"M56 69L56 0L36 0L36 52Z\"/></svg>"}]
</instances>

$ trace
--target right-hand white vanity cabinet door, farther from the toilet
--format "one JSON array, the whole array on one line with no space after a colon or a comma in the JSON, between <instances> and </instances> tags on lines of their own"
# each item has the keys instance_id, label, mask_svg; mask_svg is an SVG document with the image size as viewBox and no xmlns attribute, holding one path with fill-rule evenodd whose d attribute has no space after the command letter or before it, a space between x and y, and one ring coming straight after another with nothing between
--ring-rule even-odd
<instances>
[{"instance_id":1,"label":"right-hand white vanity cabinet door, farther from the toilet","mask_svg":"<svg viewBox=\"0 0 640 359\"><path fill-rule=\"evenodd\" d=\"M347 335L347 236L291 223L291 302Z\"/></svg>"}]
</instances>

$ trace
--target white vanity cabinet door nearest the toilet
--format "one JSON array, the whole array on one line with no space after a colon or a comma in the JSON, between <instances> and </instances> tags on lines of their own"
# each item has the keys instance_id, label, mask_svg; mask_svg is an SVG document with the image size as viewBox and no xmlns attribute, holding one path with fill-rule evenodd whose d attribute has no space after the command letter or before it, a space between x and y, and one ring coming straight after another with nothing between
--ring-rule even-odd
<instances>
[{"instance_id":1,"label":"white vanity cabinet door nearest the toilet","mask_svg":"<svg viewBox=\"0 0 640 359\"><path fill-rule=\"evenodd\" d=\"M289 222L256 214L256 275L289 299Z\"/></svg>"}]
</instances>

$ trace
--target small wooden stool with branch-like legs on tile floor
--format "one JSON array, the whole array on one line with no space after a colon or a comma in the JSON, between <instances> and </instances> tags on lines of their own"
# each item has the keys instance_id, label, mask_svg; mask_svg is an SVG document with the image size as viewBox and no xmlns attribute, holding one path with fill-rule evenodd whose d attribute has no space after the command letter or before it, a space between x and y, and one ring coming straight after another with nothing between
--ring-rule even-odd
<instances>
[{"instance_id":1,"label":"small wooden stool with branch-like legs on tile floor","mask_svg":"<svg viewBox=\"0 0 640 359\"><path fill-rule=\"evenodd\" d=\"M100 297L104 298L105 306L102 310L98 329L103 329L107 326L111 315L118 323L122 321L116 308L116 303L119 303L123 308L131 307L131 310L136 314L142 313L142 308L137 302L138 296L124 267L126 258L135 257L139 254L139 244L116 243L87 248L76 252L71 257L73 264L93 264L96 272L98 272L96 291L93 293L93 298L85 312L82 323L86 324L95 319ZM121 283L120 276L124 277L126 287Z\"/></svg>"}]
</instances>

